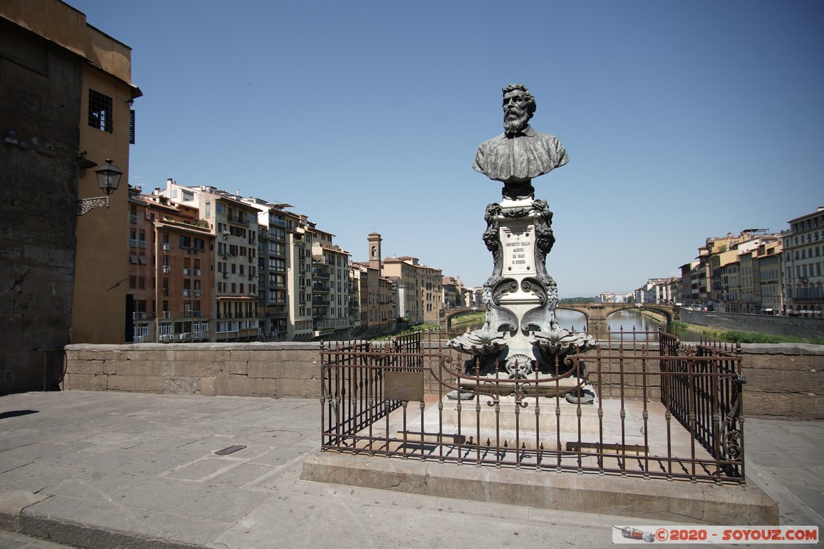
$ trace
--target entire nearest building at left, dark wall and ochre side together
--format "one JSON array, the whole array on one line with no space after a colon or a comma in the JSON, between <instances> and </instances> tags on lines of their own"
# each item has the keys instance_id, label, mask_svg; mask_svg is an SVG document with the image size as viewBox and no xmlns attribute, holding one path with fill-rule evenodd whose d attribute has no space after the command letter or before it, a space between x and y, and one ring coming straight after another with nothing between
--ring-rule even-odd
<instances>
[{"instance_id":1,"label":"entire nearest building at left, dark wall and ochre side together","mask_svg":"<svg viewBox=\"0 0 824 549\"><path fill-rule=\"evenodd\" d=\"M78 218L112 159L128 181L130 50L58 0L0 3L0 393L54 388L69 342L126 332L124 184Z\"/></svg>"}]
</instances>

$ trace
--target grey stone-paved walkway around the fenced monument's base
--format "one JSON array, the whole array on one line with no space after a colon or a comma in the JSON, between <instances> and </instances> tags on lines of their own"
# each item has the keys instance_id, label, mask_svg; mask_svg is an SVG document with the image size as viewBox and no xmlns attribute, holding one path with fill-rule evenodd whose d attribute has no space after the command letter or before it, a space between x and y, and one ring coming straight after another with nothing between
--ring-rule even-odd
<instances>
[{"instance_id":1,"label":"grey stone-paved walkway around the fenced monument's base","mask_svg":"<svg viewBox=\"0 0 824 549\"><path fill-rule=\"evenodd\" d=\"M0 397L0 528L29 536L0 547L611 547L613 525L662 524L302 481L319 414L308 399ZM745 435L781 523L824 525L824 421L747 419Z\"/></svg>"}]
</instances>

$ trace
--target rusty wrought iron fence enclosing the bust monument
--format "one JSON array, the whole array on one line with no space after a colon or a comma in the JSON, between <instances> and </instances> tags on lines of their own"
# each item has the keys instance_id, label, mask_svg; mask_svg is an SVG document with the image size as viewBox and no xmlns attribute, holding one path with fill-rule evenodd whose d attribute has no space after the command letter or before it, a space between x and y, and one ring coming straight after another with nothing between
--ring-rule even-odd
<instances>
[{"instance_id":1,"label":"rusty wrought iron fence enclosing the bust monument","mask_svg":"<svg viewBox=\"0 0 824 549\"><path fill-rule=\"evenodd\" d=\"M330 343L321 449L743 483L740 353L663 332L626 335L513 379L480 375L445 333Z\"/></svg>"}]
</instances>

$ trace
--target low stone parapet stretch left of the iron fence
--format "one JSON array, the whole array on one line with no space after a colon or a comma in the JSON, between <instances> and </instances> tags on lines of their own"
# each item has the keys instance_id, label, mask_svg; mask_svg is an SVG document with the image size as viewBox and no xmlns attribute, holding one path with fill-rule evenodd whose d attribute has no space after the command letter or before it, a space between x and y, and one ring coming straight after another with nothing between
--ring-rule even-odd
<instances>
[{"instance_id":1,"label":"low stone parapet stretch left of the iron fence","mask_svg":"<svg viewBox=\"0 0 824 549\"><path fill-rule=\"evenodd\" d=\"M320 398L320 343L68 345L63 389Z\"/></svg>"}]
</instances>

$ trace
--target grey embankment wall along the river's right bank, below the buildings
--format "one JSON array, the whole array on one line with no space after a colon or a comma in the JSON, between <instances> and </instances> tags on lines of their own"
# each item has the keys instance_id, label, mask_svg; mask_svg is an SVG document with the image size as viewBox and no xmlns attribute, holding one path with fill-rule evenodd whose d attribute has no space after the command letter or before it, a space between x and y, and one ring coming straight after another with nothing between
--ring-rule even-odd
<instances>
[{"instance_id":1,"label":"grey embankment wall along the river's right bank, below the buildings","mask_svg":"<svg viewBox=\"0 0 824 549\"><path fill-rule=\"evenodd\" d=\"M803 339L824 339L824 319L803 319L767 314L715 313L681 309L681 322L742 332L769 333L774 336L796 336Z\"/></svg>"}]
</instances>

